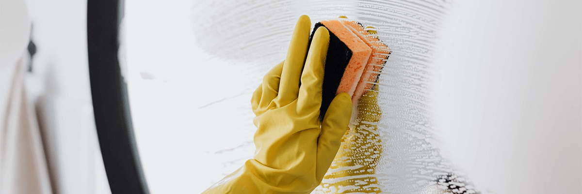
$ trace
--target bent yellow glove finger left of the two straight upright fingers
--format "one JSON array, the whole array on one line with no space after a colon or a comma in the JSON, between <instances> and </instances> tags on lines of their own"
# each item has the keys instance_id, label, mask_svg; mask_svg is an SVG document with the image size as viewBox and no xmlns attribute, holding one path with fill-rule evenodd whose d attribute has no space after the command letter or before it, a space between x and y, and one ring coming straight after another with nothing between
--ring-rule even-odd
<instances>
[{"instance_id":1,"label":"bent yellow glove finger left of the two straight upright fingers","mask_svg":"<svg viewBox=\"0 0 582 194\"><path fill-rule=\"evenodd\" d=\"M272 100L277 97L279 91L279 80L281 80L281 71L283 70L283 63L277 64L262 78L261 96L258 99L257 109L253 109L255 114L262 114L270 107ZM255 97L253 100L257 100Z\"/></svg>"}]
</instances>

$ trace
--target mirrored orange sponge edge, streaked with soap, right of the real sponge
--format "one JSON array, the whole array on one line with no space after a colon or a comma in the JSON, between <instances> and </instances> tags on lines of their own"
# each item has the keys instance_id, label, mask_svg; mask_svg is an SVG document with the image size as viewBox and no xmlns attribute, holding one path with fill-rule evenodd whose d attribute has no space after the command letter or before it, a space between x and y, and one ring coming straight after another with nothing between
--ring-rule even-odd
<instances>
[{"instance_id":1,"label":"mirrored orange sponge edge, streaked with soap, right of the real sponge","mask_svg":"<svg viewBox=\"0 0 582 194\"><path fill-rule=\"evenodd\" d=\"M370 31L365 30L364 27L356 21L340 20L340 22L362 39L372 50L371 56L368 58L368 62L365 65L365 70L357 83L354 94L352 95L352 103L354 107L357 107L361 96L374 86L374 82L377 81L379 73L386 63L386 59L388 59L391 51L388 46L373 35L375 34L375 31L372 31L371 34Z\"/></svg>"}]
</instances>

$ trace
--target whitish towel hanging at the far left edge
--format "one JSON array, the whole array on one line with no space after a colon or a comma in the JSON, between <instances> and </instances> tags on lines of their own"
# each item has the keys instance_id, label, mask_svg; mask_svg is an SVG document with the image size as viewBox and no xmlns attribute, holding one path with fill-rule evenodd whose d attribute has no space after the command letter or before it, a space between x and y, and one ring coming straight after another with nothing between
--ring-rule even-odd
<instances>
[{"instance_id":1,"label":"whitish towel hanging at the far left edge","mask_svg":"<svg viewBox=\"0 0 582 194\"><path fill-rule=\"evenodd\" d=\"M23 60L2 68L0 194L52 193L36 114L24 91Z\"/></svg>"}]
</instances>

